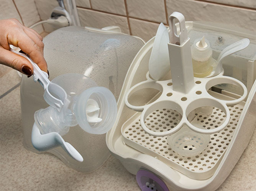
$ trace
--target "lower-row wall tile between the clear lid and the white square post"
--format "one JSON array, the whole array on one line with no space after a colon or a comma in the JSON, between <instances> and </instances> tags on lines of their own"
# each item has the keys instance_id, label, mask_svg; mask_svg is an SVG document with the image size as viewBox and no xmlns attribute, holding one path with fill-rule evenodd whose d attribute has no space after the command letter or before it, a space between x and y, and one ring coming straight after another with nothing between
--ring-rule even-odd
<instances>
[{"instance_id":1,"label":"lower-row wall tile between the clear lid and the white square post","mask_svg":"<svg viewBox=\"0 0 256 191\"><path fill-rule=\"evenodd\" d=\"M141 37L146 42L156 35L159 24L132 18L129 20L132 35Z\"/></svg>"}]
</instances>

